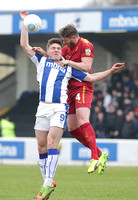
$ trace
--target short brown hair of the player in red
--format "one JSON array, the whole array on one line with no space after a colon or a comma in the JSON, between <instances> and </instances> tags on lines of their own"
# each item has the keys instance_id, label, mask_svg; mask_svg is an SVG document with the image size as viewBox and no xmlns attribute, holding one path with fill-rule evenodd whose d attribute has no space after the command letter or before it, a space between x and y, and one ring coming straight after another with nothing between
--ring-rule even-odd
<instances>
[{"instance_id":1,"label":"short brown hair of the player in red","mask_svg":"<svg viewBox=\"0 0 138 200\"><path fill-rule=\"evenodd\" d=\"M59 35L61 38L71 38L73 35L76 37L79 36L78 31L73 24L68 24L67 26L61 28L59 30Z\"/></svg>"}]
</instances>

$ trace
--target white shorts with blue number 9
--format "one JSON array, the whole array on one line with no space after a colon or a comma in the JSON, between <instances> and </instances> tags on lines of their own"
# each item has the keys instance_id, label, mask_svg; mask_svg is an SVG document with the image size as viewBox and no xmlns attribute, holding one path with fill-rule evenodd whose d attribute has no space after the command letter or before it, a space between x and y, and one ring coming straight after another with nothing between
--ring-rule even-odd
<instances>
[{"instance_id":1,"label":"white shorts with blue number 9","mask_svg":"<svg viewBox=\"0 0 138 200\"><path fill-rule=\"evenodd\" d=\"M51 126L66 128L68 104L40 102L36 113L34 129L49 131Z\"/></svg>"}]
</instances>

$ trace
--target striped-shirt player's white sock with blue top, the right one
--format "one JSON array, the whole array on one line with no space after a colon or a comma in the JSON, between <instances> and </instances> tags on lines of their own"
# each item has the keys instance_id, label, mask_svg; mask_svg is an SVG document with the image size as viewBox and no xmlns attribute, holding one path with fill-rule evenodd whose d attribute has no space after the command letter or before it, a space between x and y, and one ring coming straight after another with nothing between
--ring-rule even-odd
<instances>
[{"instance_id":1,"label":"striped-shirt player's white sock with blue top, the right one","mask_svg":"<svg viewBox=\"0 0 138 200\"><path fill-rule=\"evenodd\" d=\"M44 186L51 187L52 180L54 178L57 168L59 153L58 149L48 149L47 152L48 152L48 159L46 164L46 179L44 181Z\"/></svg>"}]
</instances>

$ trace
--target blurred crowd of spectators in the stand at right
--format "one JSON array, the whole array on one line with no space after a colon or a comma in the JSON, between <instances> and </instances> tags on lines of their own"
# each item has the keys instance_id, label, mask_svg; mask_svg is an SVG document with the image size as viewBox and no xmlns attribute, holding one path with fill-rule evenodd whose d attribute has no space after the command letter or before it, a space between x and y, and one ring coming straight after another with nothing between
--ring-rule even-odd
<instances>
[{"instance_id":1,"label":"blurred crowd of spectators in the stand at right","mask_svg":"<svg viewBox=\"0 0 138 200\"><path fill-rule=\"evenodd\" d=\"M97 138L138 139L138 64L94 84L90 122Z\"/></svg>"}]
</instances>

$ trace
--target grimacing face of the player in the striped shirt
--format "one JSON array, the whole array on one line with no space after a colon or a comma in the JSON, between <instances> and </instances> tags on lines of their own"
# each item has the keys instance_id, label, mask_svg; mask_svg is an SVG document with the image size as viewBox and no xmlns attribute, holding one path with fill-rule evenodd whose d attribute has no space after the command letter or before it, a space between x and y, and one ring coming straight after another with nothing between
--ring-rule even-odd
<instances>
[{"instance_id":1,"label":"grimacing face of the player in the striped shirt","mask_svg":"<svg viewBox=\"0 0 138 200\"><path fill-rule=\"evenodd\" d=\"M48 57L53 61L59 61L61 58L62 47L59 44L51 44L47 49Z\"/></svg>"}]
</instances>

